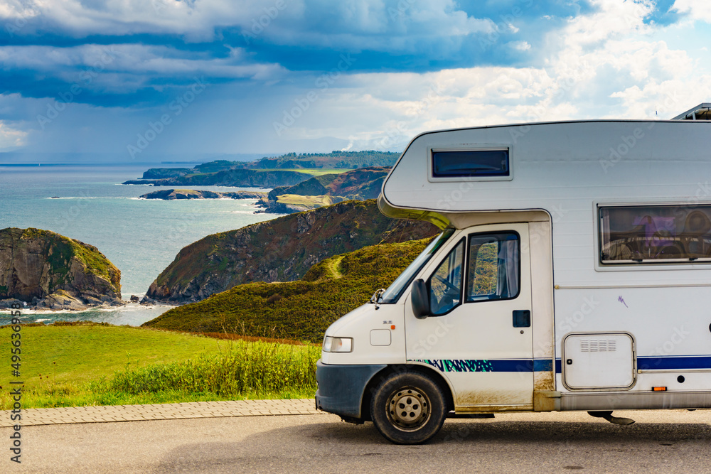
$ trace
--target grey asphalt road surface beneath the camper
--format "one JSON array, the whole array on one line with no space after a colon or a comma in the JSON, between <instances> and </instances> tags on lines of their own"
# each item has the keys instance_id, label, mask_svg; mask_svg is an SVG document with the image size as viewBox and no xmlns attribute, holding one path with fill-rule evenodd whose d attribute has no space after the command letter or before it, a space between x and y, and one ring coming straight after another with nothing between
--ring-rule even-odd
<instances>
[{"instance_id":1,"label":"grey asphalt road surface beneath the camper","mask_svg":"<svg viewBox=\"0 0 711 474\"><path fill-rule=\"evenodd\" d=\"M711 411L615 414L637 423L577 412L448 419L424 446L325 414L26 426L21 465L0 429L0 472L711 473Z\"/></svg>"}]
</instances>

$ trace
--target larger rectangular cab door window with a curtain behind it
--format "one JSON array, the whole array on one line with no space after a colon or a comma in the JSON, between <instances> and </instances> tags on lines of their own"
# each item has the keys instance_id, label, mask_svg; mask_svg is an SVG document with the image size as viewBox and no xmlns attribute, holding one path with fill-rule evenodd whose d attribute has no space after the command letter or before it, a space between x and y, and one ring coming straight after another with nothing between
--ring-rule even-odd
<instances>
[{"instance_id":1,"label":"larger rectangular cab door window with a curtain behind it","mask_svg":"<svg viewBox=\"0 0 711 474\"><path fill-rule=\"evenodd\" d=\"M515 232L469 237L466 301L491 301L518 296L520 239Z\"/></svg>"}]
</instances>

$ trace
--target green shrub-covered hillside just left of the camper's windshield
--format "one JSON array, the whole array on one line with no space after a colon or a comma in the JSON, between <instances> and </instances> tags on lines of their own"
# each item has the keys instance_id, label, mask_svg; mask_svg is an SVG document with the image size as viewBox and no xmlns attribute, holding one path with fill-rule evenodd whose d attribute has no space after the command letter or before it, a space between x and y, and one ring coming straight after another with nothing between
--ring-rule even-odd
<instances>
[{"instance_id":1,"label":"green shrub-covered hillside just left of the camper's windshield","mask_svg":"<svg viewBox=\"0 0 711 474\"><path fill-rule=\"evenodd\" d=\"M428 241L373 245L337 255L312 266L300 281L235 286L173 308L144 326L318 343L333 321L395 280Z\"/></svg>"}]
</instances>

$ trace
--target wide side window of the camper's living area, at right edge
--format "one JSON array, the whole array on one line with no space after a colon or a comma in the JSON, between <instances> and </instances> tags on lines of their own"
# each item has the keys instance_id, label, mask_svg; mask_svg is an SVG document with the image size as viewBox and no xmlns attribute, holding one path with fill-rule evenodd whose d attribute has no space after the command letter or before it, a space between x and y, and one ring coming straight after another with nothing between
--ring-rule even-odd
<instances>
[{"instance_id":1,"label":"wide side window of the camper's living area, at right edge","mask_svg":"<svg viewBox=\"0 0 711 474\"><path fill-rule=\"evenodd\" d=\"M602 264L711 262L711 205L599 208Z\"/></svg>"}]
</instances>

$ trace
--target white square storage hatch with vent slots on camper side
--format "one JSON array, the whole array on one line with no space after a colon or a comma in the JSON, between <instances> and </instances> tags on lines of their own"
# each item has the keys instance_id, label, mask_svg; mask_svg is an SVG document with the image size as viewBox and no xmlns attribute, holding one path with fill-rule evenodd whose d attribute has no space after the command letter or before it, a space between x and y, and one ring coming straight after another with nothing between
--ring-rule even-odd
<instances>
[{"instance_id":1,"label":"white square storage hatch with vent slots on camper side","mask_svg":"<svg viewBox=\"0 0 711 474\"><path fill-rule=\"evenodd\" d=\"M563 384L571 390L634 385L634 339L628 333L570 334L563 341Z\"/></svg>"}]
</instances>

